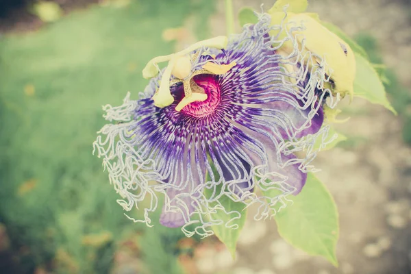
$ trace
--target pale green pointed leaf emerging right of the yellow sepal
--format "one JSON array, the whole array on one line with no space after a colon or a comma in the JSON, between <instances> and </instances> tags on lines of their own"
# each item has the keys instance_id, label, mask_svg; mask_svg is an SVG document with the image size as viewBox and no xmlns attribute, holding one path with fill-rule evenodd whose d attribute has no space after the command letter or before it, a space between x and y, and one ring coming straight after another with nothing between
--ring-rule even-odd
<instances>
[{"instance_id":1,"label":"pale green pointed leaf emerging right of the yellow sepal","mask_svg":"<svg viewBox=\"0 0 411 274\"><path fill-rule=\"evenodd\" d=\"M371 103L383 105L397 115L386 97L384 85L379 79L373 65L356 53L356 79L354 81L354 96L367 99Z\"/></svg>"}]
</instances>

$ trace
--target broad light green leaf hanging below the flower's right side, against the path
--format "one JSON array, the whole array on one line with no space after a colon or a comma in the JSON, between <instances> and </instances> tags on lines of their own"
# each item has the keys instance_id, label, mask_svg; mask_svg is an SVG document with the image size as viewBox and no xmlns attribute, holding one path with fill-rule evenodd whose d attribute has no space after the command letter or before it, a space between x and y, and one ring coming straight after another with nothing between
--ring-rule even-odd
<instances>
[{"instance_id":1,"label":"broad light green leaf hanging below the flower's right side, against the path","mask_svg":"<svg viewBox=\"0 0 411 274\"><path fill-rule=\"evenodd\" d=\"M338 212L328 190L308 173L301 193L289 199L293 203L275 215L279 235L294 247L314 256L323 256L338 266Z\"/></svg>"}]
</instances>

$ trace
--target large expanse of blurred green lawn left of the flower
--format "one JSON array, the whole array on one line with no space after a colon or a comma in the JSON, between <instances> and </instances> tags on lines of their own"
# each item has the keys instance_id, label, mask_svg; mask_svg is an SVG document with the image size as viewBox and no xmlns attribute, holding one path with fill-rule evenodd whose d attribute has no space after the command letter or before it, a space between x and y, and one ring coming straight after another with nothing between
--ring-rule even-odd
<instances>
[{"instance_id":1,"label":"large expanse of blurred green lawn left of the flower","mask_svg":"<svg viewBox=\"0 0 411 274\"><path fill-rule=\"evenodd\" d=\"M173 51L162 31L200 11L199 36L207 36L203 22L213 6L209 0L95 5L0 40L0 223L15 258L0 272L41 266L109 273L120 242L140 231L147 233L142 256L155 267L151 273L179 273L167 248L182 232L129 221L101 159L91 154L92 142L105 123L101 105L120 105L128 90L136 99L147 84L145 62Z\"/></svg>"}]
</instances>

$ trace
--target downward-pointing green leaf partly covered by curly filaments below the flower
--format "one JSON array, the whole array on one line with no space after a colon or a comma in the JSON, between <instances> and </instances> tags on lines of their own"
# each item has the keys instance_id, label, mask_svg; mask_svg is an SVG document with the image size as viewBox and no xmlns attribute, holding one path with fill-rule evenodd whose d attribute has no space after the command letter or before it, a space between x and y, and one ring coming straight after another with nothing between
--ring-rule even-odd
<instances>
[{"instance_id":1,"label":"downward-pointing green leaf partly covered by curly filaments below the flower","mask_svg":"<svg viewBox=\"0 0 411 274\"><path fill-rule=\"evenodd\" d=\"M210 181L209 175L207 175L206 182ZM210 199L210 197L215 197L221 193L221 185L216 187L216 191L213 195L214 189L204 190L204 195ZM238 238L240 236L240 232L245 225L246 220L246 205L242 202L236 202L223 195L218 199L219 202L211 203L210 206L219 206L220 209L217 207L216 212L210 214L210 220L222 220L223 223L221 225L213 225L212 230L214 234L216 234L217 238L223 242L225 247L229 250L232 254L233 258L236 258L236 246L238 242ZM221 208L223 206L224 210ZM244 211L244 212L243 212ZM229 214L225 213L229 212ZM238 214L240 212L240 214ZM230 221L231 220L231 221ZM229 222L229 223L227 223ZM226 225L228 227L226 227Z\"/></svg>"}]
</instances>

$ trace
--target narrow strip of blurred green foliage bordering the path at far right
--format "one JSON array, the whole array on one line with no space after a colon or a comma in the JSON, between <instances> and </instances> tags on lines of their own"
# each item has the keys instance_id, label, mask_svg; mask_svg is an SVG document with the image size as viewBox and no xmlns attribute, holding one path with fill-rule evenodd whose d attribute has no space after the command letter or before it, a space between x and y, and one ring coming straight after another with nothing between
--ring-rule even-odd
<instances>
[{"instance_id":1,"label":"narrow strip of blurred green foliage bordering the path at far right","mask_svg":"<svg viewBox=\"0 0 411 274\"><path fill-rule=\"evenodd\" d=\"M382 64L382 55L379 51L377 40L373 36L360 33L356 36L356 41L360 46L364 47L371 62ZM408 145L411 145L411 92L399 82L393 69L386 68L384 65L377 65L375 69L385 79L384 86L388 96L391 98L390 101L403 120L403 140Z\"/></svg>"}]
</instances>

